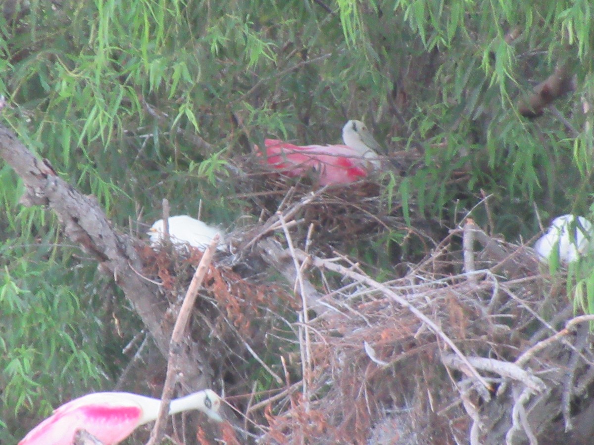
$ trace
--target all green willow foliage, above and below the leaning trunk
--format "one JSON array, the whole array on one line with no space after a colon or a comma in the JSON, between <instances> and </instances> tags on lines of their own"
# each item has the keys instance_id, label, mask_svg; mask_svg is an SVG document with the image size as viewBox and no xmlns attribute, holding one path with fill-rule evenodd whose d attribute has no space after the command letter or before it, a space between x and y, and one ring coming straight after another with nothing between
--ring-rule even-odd
<instances>
[{"instance_id":1,"label":"all green willow foliage, above and below the leaning trunk","mask_svg":"<svg viewBox=\"0 0 594 445\"><path fill-rule=\"evenodd\" d=\"M381 190L409 224L451 227L484 192L492 230L527 239L534 204L550 217L588 208L592 124L579 102L594 96L591 2L321 3L331 12L302 0L18 2L17 20L0 17L4 123L120 226L140 210L158 218L163 198L174 214L202 202L206 220L229 225L245 208L229 199L234 160L266 136L338 141L347 119L365 120L390 152L419 153ZM577 88L555 107L577 136L552 113L517 112L565 61ZM110 314L90 304L96 264L64 245L52 214L21 208L22 192L1 166L0 386L12 409L0 422L10 425L15 411L48 412L117 373L103 369L112 360L97 335ZM480 206L473 216L486 221ZM384 237L375 248L405 242Z\"/></svg>"}]
</instances>

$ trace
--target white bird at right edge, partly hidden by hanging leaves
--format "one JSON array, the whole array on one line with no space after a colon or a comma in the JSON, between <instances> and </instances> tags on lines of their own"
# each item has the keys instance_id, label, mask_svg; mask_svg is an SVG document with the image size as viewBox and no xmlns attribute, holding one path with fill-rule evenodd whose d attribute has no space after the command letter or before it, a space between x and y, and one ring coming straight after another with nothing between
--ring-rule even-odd
<instances>
[{"instance_id":1,"label":"white bird at right edge, partly hidden by hanging leaves","mask_svg":"<svg viewBox=\"0 0 594 445\"><path fill-rule=\"evenodd\" d=\"M586 218L561 215L552 221L551 227L536 241L534 249L543 262L548 262L553 250L557 249L559 262L568 264L586 251L593 234L592 224Z\"/></svg>"}]
</instances>

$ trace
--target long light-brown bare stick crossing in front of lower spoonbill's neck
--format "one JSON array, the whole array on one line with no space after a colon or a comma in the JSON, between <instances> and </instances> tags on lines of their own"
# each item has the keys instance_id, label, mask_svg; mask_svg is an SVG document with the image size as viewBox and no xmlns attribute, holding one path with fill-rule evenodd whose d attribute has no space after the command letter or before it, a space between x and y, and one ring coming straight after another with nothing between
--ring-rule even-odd
<instances>
[{"instance_id":1,"label":"long light-brown bare stick crossing in front of lower spoonbill's neck","mask_svg":"<svg viewBox=\"0 0 594 445\"><path fill-rule=\"evenodd\" d=\"M198 290L202 285L204 275L208 271L210 262L213 259L214 252L219 244L219 235L215 235L210 245L204 251L200 263L192 276L192 281L189 284L188 291L184 297L181 309L179 309L178 319L175 320L173 326L173 333L171 334L171 341L169 343L169 360L167 363L167 375L165 377L165 384L163 385L163 393L161 395L161 406L159 409L159 417L154 424L153 431L151 431L150 439L147 445L156 445L159 443L165 434L165 426L167 424L167 417L169 414L169 403L173 395L173 387L175 386L176 377L179 374L179 353L184 347L184 336L188 326L189 317L194 307L194 302L198 296Z\"/></svg>"}]
</instances>

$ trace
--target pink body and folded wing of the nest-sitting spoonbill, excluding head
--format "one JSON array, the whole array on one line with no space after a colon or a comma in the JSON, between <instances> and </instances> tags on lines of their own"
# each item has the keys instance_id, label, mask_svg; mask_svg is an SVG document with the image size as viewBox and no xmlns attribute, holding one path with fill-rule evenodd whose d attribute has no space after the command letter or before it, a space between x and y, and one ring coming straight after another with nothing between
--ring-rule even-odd
<instances>
[{"instance_id":1,"label":"pink body and folded wing of the nest-sitting spoonbill, excluding head","mask_svg":"<svg viewBox=\"0 0 594 445\"><path fill-rule=\"evenodd\" d=\"M269 166L287 176L299 176L308 170L320 172L320 185L345 184L367 176L365 161L347 145L293 145L278 139L266 139Z\"/></svg>"}]
</instances>

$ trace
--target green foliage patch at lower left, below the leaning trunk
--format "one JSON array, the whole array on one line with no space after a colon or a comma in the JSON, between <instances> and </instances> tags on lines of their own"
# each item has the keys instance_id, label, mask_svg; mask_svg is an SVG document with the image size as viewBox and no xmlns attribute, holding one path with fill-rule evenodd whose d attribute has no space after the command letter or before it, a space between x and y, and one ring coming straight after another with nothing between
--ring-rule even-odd
<instances>
[{"instance_id":1,"label":"green foliage patch at lower left, below the leaning trunk","mask_svg":"<svg viewBox=\"0 0 594 445\"><path fill-rule=\"evenodd\" d=\"M93 276L66 259L78 249L56 245L55 231L38 226L35 213L24 211L15 218L24 236L0 244L3 420L19 412L37 413L40 406L39 415L46 415L49 406L42 400L69 398L104 380L102 347L89 341L102 323L89 317L88 291L80 297L71 285L80 282L88 288ZM38 234L34 245L28 244L30 233Z\"/></svg>"}]
</instances>

